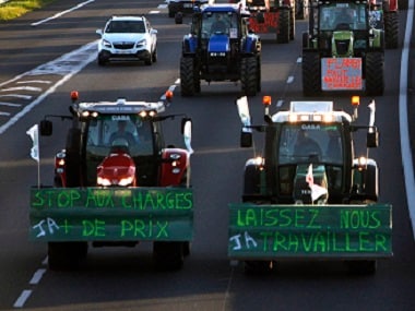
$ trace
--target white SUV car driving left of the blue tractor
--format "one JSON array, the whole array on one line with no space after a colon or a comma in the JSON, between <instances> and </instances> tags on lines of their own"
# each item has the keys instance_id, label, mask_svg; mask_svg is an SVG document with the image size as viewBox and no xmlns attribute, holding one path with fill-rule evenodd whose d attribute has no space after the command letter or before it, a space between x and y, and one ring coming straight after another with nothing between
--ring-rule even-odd
<instances>
[{"instance_id":1,"label":"white SUV car driving left of the blue tractor","mask_svg":"<svg viewBox=\"0 0 415 311\"><path fill-rule=\"evenodd\" d=\"M145 16L112 16L97 29L99 65L111 60L157 61L157 31Z\"/></svg>"}]
</instances>

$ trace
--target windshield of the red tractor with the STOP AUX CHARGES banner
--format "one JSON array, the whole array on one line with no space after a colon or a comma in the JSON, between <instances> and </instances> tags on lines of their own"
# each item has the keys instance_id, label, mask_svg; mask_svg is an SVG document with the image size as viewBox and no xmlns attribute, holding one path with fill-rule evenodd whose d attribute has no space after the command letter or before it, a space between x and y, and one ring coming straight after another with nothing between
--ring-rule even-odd
<instances>
[{"instance_id":1,"label":"windshield of the red tractor with the STOP AUX CHARGES banner","mask_svg":"<svg viewBox=\"0 0 415 311\"><path fill-rule=\"evenodd\" d=\"M139 116L99 116L87 127L86 154L105 157L120 147L132 157L153 155L151 129L151 121Z\"/></svg>"}]
</instances>

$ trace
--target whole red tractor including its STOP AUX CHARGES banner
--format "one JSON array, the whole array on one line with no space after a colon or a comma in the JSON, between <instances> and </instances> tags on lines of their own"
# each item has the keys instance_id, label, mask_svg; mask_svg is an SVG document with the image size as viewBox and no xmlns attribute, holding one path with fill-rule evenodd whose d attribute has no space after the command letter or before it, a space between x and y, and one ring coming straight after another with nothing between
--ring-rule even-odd
<instances>
[{"instance_id":1,"label":"whole red tractor including its STOP AUX CHARGES banner","mask_svg":"<svg viewBox=\"0 0 415 311\"><path fill-rule=\"evenodd\" d=\"M167 98L169 98L170 93ZM48 242L52 270L78 266L87 248L153 242L157 267L179 268L192 239L191 120L163 115L166 103L76 103L66 148L56 155L55 186L32 189L31 237ZM166 145L162 123L179 117L187 148Z\"/></svg>"}]
</instances>

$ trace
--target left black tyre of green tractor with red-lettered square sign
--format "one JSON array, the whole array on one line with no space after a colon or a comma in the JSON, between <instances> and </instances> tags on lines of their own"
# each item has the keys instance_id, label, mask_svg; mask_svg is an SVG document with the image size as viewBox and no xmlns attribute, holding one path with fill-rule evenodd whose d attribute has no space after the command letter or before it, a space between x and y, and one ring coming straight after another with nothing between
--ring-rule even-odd
<instances>
[{"instance_id":1,"label":"left black tyre of green tractor with red-lettered square sign","mask_svg":"<svg viewBox=\"0 0 415 311\"><path fill-rule=\"evenodd\" d=\"M303 94L315 96L321 93L320 56L315 51L303 50Z\"/></svg>"}]
</instances>

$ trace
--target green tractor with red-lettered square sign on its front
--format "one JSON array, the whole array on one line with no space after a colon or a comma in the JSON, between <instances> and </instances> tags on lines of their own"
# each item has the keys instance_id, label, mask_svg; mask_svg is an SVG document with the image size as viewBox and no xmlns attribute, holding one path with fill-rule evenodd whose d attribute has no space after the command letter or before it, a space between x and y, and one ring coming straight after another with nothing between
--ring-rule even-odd
<instances>
[{"instance_id":1,"label":"green tractor with red-lettered square sign on its front","mask_svg":"<svg viewBox=\"0 0 415 311\"><path fill-rule=\"evenodd\" d=\"M369 1L329 0L310 5L303 34L303 93L384 89L384 31L376 28Z\"/></svg>"}]
</instances>

